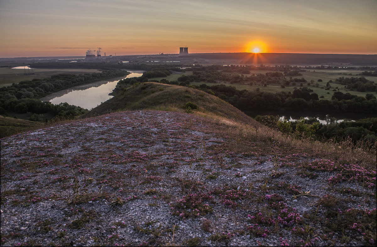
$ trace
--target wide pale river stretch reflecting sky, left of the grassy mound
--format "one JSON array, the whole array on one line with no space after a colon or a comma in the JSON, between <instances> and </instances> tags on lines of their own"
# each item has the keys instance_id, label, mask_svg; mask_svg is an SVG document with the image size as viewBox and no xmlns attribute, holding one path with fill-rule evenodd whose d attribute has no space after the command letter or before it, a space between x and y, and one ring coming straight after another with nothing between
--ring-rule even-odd
<instances>
[{"instance_id":1,"label":"wide pale river stretch reflecting sky, left of the grassy mound","mask_svg":"<svg viewBox=\"0 0 377 247\"><path fill-rule=\"evenodd\" d=\"M43 97L42 101L50 101L52 104L67 102L70 105L77 105L86 109L92 109L102 102L112 98L109 93L113 91L118 81L124 78L139 77L143 71L130 71L131 74L117 78L115 81L97 81L90 84L60 90L56 93Z\"/></svg>"}]
</instances>

